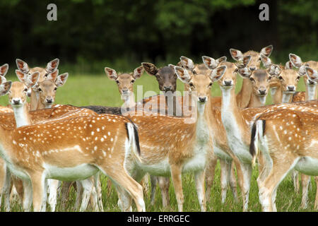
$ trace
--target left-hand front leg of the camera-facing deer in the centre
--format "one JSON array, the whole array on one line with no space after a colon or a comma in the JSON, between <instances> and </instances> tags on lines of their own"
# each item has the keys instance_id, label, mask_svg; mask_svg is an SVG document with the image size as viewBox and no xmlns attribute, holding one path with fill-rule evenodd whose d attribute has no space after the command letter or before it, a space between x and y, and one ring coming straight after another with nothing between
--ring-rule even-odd
<instances>
[{"instance_id":1,"label":"left-hand front leg of the camera-facing deer in the centre","mask_svg":"<svg viewBox=\"0 0 318 226\"><path fill-rule=\"evenodd\" d=\"M183 211L184 196L182 191L182 169L179 165L170 165L172 183L175 187L175 196L178 203L178 211Z\"/></svg>"}]
</instances>

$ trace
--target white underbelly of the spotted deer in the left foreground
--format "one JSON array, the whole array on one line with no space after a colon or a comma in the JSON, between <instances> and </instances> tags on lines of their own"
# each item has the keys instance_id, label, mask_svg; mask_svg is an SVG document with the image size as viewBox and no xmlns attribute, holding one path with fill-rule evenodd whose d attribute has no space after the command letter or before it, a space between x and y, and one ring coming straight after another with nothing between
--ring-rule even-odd
<instances>
[{"instance_id":1,"label":"white underbelly of the spotted deer in the left foreground","mask_svg":"<svg viewBox=\"0 0 318 226\"><path fill-rule=\"evenodd\" d=\"M76 181L86 179L98 172L98 167L89 164L82 164L76 167L56 167L54 165L45 165L46 177L49 179L58 179L61 181Z\"/></svg>"}]
</instances>

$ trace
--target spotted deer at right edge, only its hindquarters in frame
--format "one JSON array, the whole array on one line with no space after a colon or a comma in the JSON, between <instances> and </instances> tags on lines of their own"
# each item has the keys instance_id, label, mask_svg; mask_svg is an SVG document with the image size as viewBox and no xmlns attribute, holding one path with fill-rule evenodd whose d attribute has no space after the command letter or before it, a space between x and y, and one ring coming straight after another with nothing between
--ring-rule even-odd
<instances>
[{"instance_id":1,"label":"spotted deer at right edge, only its hindquarters in frame","mask_svg":"<svg viewBox=\"0 0 318 226\"><path fill-rule=\"evenodd\" d=\"M250 153L256 159L260 149L263 155L257 184L264 211L276 211L278 185L291 169L318 175L317 126L318 110L309 107L264 113L254 122Z\"/></svg>"}]
</instances>

